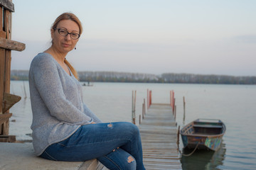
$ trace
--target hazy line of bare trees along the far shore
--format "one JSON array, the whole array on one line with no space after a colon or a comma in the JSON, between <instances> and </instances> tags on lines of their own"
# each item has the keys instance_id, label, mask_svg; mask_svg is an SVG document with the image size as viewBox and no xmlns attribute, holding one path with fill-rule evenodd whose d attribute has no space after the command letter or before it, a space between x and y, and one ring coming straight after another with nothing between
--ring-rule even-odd
<instances>
[{"instance_id":1,"label":"hazy line of bare trees along the far shore","mask_svg":"<svg viewBox=\"0 0 256 170\"><path fill-rule=\"evenodd\" d=\"M90 82L139 82L181 84L256 84L256 77L225 75L175 74L161 75L128 72L78 72L80 81ZM11 70L11 80L28 80L28 70Z\"/></svg>"}]
</instances>

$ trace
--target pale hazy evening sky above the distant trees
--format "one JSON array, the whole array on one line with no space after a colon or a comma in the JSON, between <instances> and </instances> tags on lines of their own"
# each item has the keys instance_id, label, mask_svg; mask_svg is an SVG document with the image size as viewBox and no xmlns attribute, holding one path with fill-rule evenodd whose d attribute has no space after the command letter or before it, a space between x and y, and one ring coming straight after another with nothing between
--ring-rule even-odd
<instances>
[{"instance_id":1,"label":"pale hazy evening sky above the distant trees","mask_svg":"<svg viewBox=\"0 0 256 170\"><path fill-rule=\"evenodd\" d=\"M67 59L78 71L256 76L255 0L13 0L11 69L50 47L50 26L75 13L84 32Z\"/></svg>"}]
</instances>

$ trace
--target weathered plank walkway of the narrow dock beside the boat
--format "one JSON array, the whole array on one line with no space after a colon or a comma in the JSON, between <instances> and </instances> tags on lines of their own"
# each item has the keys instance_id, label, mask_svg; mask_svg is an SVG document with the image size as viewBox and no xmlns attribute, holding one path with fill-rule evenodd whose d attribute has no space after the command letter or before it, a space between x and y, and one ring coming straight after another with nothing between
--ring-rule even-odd
<instances>
[{"instance_id":1,"label":"weathered plank walkway of the narrow dock beside the boat","mask_svg":"<svg viewBox=\"0 0 256 170\"><path fill-rule=\"evenodd\" d=\"M147 170L182 169L176 143L178 129L170 104L152 103L139 130Z\"/></svg>"}]
</instances>

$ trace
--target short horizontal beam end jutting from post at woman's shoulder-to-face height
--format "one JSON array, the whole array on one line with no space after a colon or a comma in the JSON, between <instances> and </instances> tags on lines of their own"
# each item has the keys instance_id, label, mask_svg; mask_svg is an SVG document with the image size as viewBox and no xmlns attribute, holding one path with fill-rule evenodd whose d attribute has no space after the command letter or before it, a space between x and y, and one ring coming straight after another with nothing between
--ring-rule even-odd
<instances>
[{"instance_id":1,"label":"short horizontal beam end jutting from post at woman's shoulder-to-face height","mask_svg":"<svg viewBox=\"0 0 256 170\"><path fill-rule=\"evenodd\" d=\"M23 51L25 50L26 45L14 40L6 40L5 38L0 38L0 47L8 50Z\"/></svg>"}]
</instances>

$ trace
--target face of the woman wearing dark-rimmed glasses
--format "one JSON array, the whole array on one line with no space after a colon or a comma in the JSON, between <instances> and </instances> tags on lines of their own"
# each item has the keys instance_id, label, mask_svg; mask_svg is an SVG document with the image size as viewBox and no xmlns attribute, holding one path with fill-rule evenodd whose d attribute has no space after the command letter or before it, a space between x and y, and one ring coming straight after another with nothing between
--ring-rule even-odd
<instances>
[{"instance_id":1,"label":"face of the woman wearing dark-rimmed glasses","mask_svg":"<svg viewBox=\"0 0 256 170\"><path fill-rule=\"evenodd\" d=\"M68 35L60 35L58 33L58 29L61 28L63 30L67 30L68 33L78 33L79 34L79 26L77 23L71 20L62 20L58 23L56 30L51 30L51 37L53 39L53 47L61 53L68 53L74 49L76 43L79 38L73 40L70 38L70 34Z\"/></svg>"}]
</instances>

